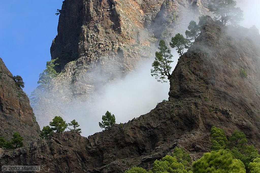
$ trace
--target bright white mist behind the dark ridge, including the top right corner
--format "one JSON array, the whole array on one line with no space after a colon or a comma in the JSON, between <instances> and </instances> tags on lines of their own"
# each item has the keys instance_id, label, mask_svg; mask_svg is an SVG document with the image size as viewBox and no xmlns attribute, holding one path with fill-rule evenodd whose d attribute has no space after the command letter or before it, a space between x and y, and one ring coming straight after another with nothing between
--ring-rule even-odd
<instances>
[{"instance_id":1,"label":"bright white mist behind the dark ridge, including the top right corner","mask_svg":"<svg viewBox=\"0 0 260 173\"><path fill-rule=\"evenodd\" d=\"M260 28L257 9L259 5L260 2L257 0L252 0L250 3L243 0L238 1L237 6L244 11L245 20L241 22L242 26L250 28L252 25L256 25L258 29ZM188 21L198 20L197 16L193 18L195 16L184 16L186 21L180 22L183 26L178 28L178 32L185 33ZM173 71L179 56L175 49L172 49L172 54L174 55ZM158 102L167 100L169 92L169 83L159 83L151 76L150 69L154 58L150 59L150 61L139 64L138 70L101 87L98 92L94 93L94 99L91 101L88 99L82 103L75 100L65 108L61 103L57 104L57 109L62 111L62 117L66 122L73 119L79 122L82 136L92 135L102 130L98 122L102 121L102 115L105 115L106 111L115 115L116 123L125 123L134 117L146 114L155 108ZM96 76L96 78L100 78L100 76Z\"/></svg>"}]
</instances>

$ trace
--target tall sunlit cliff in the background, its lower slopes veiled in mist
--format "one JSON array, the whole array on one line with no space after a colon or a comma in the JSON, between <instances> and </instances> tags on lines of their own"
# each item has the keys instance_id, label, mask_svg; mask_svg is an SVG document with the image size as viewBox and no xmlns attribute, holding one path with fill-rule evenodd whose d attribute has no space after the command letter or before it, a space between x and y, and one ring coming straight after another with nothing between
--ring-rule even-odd
<instances>
[{"instance_id":1,"label":"tall sunlit cliff in the background, its lower slopes veiled in mist","mask_svg":"<svg viewBox=\"0 0 260 173\"><path fill-rule=\"evenodd\" d=\"M206 0L65 0L50 50L62 73L34 107L39 124L66 116L63 106L75 99L92 102L93 93L138 69L154 56L158 39L185 31L206 6Z\"/></svg>"}]
</instances>

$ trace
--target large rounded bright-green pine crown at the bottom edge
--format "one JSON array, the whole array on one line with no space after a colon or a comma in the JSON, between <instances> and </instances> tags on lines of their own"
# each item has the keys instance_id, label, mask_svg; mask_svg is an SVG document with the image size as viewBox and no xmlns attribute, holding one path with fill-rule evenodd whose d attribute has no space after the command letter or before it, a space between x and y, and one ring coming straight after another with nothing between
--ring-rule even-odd
<instances>
[{"instance_id":1,"label":"large rounded bright-green pine crown at the bottom edge","mask_svg":"<svg viewBox=\"0 0 260 173\"><path fill-rule=\"evenodd\" d=\"M194 173L245 173L244 166L234 160L232 155L223 149L205 153L203 157L193 162Z\"/></svg>"}]
</instances>

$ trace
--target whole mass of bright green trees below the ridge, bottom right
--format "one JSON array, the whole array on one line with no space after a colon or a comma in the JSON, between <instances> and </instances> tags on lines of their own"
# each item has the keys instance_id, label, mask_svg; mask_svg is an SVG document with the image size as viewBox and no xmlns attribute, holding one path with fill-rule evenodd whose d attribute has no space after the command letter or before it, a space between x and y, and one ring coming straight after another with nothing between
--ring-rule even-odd
<instances>
[{"instance_id":1,"label":"whole mass of bright green trees below the ridge, bottom right","mask_svg":"<svg viewBox=\"0 0 260 173\"><path fill-rule=\"evenodd\" d=\"M192 163L192 167L190 155L184 149L176 147L172 156L167 155L161 160L154 161L152 170L146 171L138 167L130 170L149 173L258 173L260 171L260 155L254 146L246 145L247 140L243 132L235 130L228 141L223 129L213 126L210 136L211 141L216 143L215 148L221 149L205 153L203 157ZM231 150L225 149L228 143Z\"/></svg>"}]
</instances>

